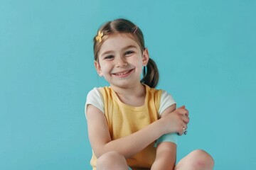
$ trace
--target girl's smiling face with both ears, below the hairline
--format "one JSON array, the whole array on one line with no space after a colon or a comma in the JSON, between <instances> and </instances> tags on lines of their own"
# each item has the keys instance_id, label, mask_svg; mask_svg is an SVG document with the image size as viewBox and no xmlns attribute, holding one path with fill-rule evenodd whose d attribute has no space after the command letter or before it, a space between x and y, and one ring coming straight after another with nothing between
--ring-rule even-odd
<instances>
[{"instance_id":1,"label":"girl's smiling face with both ears, below the hairline","mask_svg":"<svg viewBox=\"0 0 256 170\"><path fill-rule=\"evenodd\" d=\"M129 87L140 84L142 68L149 61L147 50L141 48L126 33L110 35L102 43L95 68L111 86Z\"/></svg>"}]
</instances>

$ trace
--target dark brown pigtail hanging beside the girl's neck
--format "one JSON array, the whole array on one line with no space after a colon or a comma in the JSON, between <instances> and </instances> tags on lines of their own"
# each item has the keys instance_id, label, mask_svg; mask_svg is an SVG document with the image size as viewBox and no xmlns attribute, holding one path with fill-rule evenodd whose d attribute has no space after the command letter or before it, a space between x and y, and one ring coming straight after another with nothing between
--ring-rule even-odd
<instances>
[{"instance_id":1,"label":"dark brown pigtail hanging beside the girl's neck","mask_svg":"<svg viewBox=\"0 0 256 170\"><path fill-rule=\"evenodd\" d=\"M142 83L154 88L159 82L159 71L156 67L156 62L149 58L149 62L146 65L146 68L143 69L143 78Z\"/></svg>"}]
</instances>

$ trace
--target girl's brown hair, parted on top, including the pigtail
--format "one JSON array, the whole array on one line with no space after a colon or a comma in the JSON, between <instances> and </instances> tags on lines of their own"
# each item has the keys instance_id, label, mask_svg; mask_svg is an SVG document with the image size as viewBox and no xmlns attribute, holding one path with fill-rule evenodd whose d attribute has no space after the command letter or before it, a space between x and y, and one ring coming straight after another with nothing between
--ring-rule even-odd
<instances>
[{"instance_id":1,"label":"girl's brown hair, parted on top, including the pigtail","mask_svg":"<svg viewBox=\"0 0 256 170\"><path fill-rule=\"evenodd\" d=\"M141 48L142 52L146 49L144 45L144 37L142 30L139 29L134 23L131 21L128 21L126 19L116 19L114 21L108 21L103 26L97 30L97 33L103 33L102 41L99 42L96 40L97 35L93 39L94 41L94 59L95 61L98 61L99 57L99 51L102 43L107 40L107 38L113 34L113 33L127 33L135 42L138 43L139 47ZM154 88L158 84L159 81L159 71L156 67L156 63L154 60L149 58L149 62L146 65L146 68L144 67L143 70L143 78L141 80L142 83Z\"/></svg>"}]
</instances>

